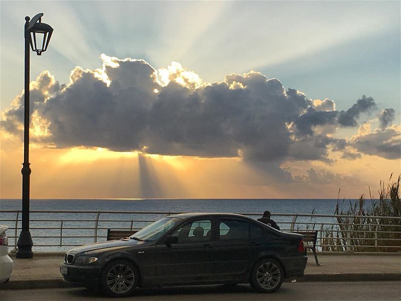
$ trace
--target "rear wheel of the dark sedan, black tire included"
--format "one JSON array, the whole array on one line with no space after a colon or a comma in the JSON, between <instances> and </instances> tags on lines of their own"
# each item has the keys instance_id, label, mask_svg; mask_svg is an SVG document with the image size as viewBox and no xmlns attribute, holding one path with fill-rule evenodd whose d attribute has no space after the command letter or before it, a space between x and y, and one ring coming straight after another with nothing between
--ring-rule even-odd
<instances>
[{"instance_id":1,"label":"rear wheel of the dark sedan, black tire included","mask_svg":"<svg viewBox=\"0 0 401 301\"><path fill-rule=\"evenodd\" d=\"M251 271L250 284L259 292L274 292L284 280L281 264L272 258L264 258L255 263Z\"/></svg>"}]
</instances>

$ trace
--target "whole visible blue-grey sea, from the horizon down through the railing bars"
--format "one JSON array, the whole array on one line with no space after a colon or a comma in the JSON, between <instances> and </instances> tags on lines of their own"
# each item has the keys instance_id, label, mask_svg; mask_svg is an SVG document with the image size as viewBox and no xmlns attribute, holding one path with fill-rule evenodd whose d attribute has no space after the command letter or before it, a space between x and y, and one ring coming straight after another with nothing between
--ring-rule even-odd
<instances>
[{"instance_id":1,"label":"whole visible blue-grey sea, from the horizon down through the railing bars","mask_svg":"<svg viewBox=\"0 0 401 301\"><path fill-rule=\"evenodd\" d=\"M337 199L32 199L31 210L68 210L71 213L31 213L30 227L34 251L65 251L73 247L94 242L96 213L84 214L76 211L146 211L146 212L230 212L262 213L269 210L281 228L289 228L292 217L274 216L276 213L291 214L334 214L337 202L344 209L357 200ZM0 224L7 230L10 250L15 248L16 213L4 212L21 210L21 199L0 199ZM140 229L165 214L111 214L101 213L97 224L97 241L106 240L107 229ZM258 218L258 216L252 216ZM115 221L118 220L118 221ZM333 222L333 218L298 217L297 222L305 224L296 227L315 228L321 223ZM21 228L21 213L18 228ZM48 229L43 229L48 228ZM63 236L60 239L60 235ZM14 237L13 237L14 236Z\"/></svg>"}]
</instances>

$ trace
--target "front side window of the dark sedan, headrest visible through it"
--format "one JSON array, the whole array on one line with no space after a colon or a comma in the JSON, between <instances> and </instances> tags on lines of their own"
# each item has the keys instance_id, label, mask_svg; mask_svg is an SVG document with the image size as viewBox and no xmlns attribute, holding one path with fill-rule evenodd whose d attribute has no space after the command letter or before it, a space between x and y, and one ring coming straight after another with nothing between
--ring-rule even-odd
<instances>
[{"instance_id":1,"label":"front side window of the dark sedan, headrest visible through it","mask_svg":"<svg viewBox=\"0 0 401 301\"><path fill-rule=\"evenodd\" d=\"M178 236L178 243L211 240L212 221L199 220L186 223L172 234Z\"/></svg>"}]
</instances>

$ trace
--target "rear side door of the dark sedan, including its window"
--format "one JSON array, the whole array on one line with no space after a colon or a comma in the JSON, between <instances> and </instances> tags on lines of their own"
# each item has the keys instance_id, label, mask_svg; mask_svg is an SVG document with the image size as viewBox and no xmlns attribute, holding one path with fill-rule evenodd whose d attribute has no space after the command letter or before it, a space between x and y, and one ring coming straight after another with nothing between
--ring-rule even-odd
<instances>
[{"instance_id":1,"label":"rear side door of the dark sedan, including its window","mask_svg":"<svg viewBox=\"0 0 401 301\"><path fill-rule=\"evenodd\" d=\"M240 279L250 262L249 222L222 217L218 221L217 230L216 276L223 281Z\"/></svg>"}]
</instances>

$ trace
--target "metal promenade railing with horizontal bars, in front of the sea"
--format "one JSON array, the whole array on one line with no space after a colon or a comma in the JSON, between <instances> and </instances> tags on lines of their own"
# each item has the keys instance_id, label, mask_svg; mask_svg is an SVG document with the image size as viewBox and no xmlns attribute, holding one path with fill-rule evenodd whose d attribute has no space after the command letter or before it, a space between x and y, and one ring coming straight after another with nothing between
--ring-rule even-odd
<instances>
[{"instance_id":1,"label":"metal promenade railing with horizontal bars, in front of the sea","mask_svg":"<svg viewBox=\"0 0 401 301\"><path fill-rule=\"evenodd\" d=\"M139 230L163 216L177 213L182 212L31 210L34 250L65 250L106 240L109 228ZM261 216L253 212L239 214ZM9 226L7 235L13 251L17 249L21 216L20 210L0 210L0 224ZM272 216L282 231L317 231L318 250L401 251L401 217L292 213L272 213ZM338 222L341 219L343 223Z\"/></svg>"}]
</instances>

